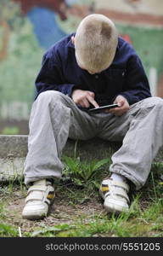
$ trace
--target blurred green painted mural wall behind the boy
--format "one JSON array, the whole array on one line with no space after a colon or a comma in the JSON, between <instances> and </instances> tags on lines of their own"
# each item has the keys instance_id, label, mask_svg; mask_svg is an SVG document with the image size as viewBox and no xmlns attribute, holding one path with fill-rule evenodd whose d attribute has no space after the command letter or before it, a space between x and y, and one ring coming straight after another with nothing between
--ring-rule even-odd
<instances>
[{"instance_id":1,"label":"blurred green painted mural wall behind the boy","mask_svg":"<svg viewBox=\"0 0 163 256\"><path fill-rule=\"evenodd\" d=\"M163 97L163 0L0 0L0 134L28 134L43 53L92 13L115 22Z\"/></svg>"}]
</instances>

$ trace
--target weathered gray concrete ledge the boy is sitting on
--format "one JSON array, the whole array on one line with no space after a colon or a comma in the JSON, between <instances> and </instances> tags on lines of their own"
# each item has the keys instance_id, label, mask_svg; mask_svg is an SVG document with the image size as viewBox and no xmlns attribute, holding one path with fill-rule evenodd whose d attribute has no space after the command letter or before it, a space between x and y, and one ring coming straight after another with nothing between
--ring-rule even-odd
<instances>
[{"instance_id":1,"label":"weathered gray concrete ledge the boy is sitting on","mask_svg":"<svg viewBox=\"0 0 163 256\"><path fill-rule=\"evenodd\" d=\"M28 136L0 136L0 181L22 176L27 154ZM80 156L81 159L103 159L111 156L121 143L110 143L94 138L88 141L68 140L63 154ZM163 161L163 148L160 148L155 161Z\"/></svg>"}]
</instances>

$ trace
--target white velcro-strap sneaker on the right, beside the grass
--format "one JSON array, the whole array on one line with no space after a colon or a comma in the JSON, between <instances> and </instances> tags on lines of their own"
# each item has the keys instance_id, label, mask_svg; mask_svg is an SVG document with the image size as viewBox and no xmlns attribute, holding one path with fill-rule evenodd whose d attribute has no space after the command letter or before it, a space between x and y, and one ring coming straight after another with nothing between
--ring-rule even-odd
<instances>
[{"instance_id":1,"label":"white velcro-strap sneaker on the right, beside the grass","mask_svg":"<svg viewBox=\"0 0 163 256\"><path fill-rule=\"evenodd\" d=\"M115 181L112 178L104 179L101 183L99 194L104 199L104 208L107 212L121 213L128 211L129 186L120 181Z\"/></svg>"}]
</instances>

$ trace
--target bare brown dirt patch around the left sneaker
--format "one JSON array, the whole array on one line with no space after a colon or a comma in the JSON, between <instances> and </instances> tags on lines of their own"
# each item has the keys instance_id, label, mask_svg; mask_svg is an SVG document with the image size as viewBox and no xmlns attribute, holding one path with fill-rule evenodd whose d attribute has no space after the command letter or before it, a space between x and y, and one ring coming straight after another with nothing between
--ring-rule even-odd
<instances>
[{"instance_id":1,"label":"bare brown dirt patch around the left sneaker","mask_svg":"<svg viewBox=\"0 0 163 256\"><path fill-rule=\"evenodd\" d=\"M47 218L42 220L27 220L21 217L21 212L25 204L25 195L19 190L15 190L11 197L6 199L6 215L8 216L8 224L20 227L21 232L32 232L37 227L53 226L55 224L71 224L77 218L87 218L93 214L101 214L104 212L103 203L100 199L88 199L82 204L70 204L68 198L56 195L51 211Z\"/></svg>"}]
</instances>

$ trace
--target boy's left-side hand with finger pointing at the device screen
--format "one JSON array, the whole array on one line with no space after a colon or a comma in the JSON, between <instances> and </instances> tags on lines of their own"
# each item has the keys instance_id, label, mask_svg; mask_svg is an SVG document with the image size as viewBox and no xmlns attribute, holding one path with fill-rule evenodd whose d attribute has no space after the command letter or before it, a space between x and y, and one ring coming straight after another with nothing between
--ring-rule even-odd
<instances>
[{"instance_id":1,"label":"boy's left-side hand with finger pointing at the device screen","mask_svg":"<svg viewBox=\"0 0 163 256\"><path fill-rule=\"evenodd\" d=\"M93 104L94 108L98 108L98 103L94 100L95 94L90 90L74 90L72 92L73 101L82 106L82 108L89 108L90 103Z\"/></svg>"}]
</instances>

